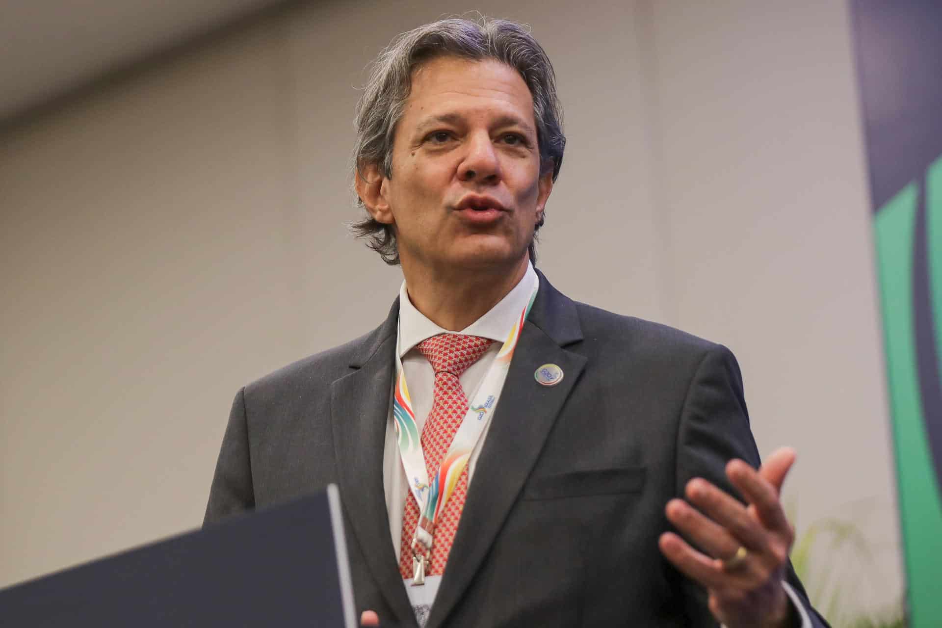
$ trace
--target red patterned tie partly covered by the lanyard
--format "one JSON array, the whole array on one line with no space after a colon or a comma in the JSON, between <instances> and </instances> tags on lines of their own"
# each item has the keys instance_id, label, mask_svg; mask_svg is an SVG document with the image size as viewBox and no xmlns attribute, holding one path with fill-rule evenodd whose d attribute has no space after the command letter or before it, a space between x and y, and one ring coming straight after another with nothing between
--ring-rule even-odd
<instances>
[{"instance_id":1,"label":"red patterned tie partly covered by the lanyard","mask_svg":"<svg viewBox=\"0 0 942 628\"><path fill-rule=\"evenodd\" d=\"M435 387L431 395L431 411L422 427L422 453L425 455L425 467L429 477L438 473L438 467L448 451L448 445L461 427L464 413L468 410L468 400L464 395L458 378L471 364L491 346L493 340L478 336L464 336L459 333L442 333L424 340L416 346L435 371ZM445 504L445 512L435 523L434 542L431 548L431 560L426 575L441 575L445 572L451 540L458 529L458 519L462 516L464 493L467 492L468 470L464 468L455 491ZM399 556L399 572L402 577L413 577L412 540L415 525L418 524L418 504L409 491L406 507L402 515L402 543Z\"/></svg>"}]
</instances>

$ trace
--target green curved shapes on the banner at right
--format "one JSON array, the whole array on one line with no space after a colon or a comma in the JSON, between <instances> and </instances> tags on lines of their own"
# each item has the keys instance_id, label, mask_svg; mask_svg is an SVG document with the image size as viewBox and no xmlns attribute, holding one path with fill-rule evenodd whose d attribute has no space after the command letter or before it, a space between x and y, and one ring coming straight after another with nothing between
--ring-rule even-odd
<instances>
[{"instance_id":1,"label":"green curved shapes on the banner at right","mask_svg":"<svg viewBox=\"0 0 942 628\"><path fill-rule=\"evenodd\" d=\"M935 356L942 356L942 159L925 179L925 233L932 297ZM874 217L883 307L886 367L906 561L909 620L914 628L942 618L942 500L919 387L914 303L918 183L906 185ZM942 371L940 371L942 372Z\"/></svg>"}]
</instances>

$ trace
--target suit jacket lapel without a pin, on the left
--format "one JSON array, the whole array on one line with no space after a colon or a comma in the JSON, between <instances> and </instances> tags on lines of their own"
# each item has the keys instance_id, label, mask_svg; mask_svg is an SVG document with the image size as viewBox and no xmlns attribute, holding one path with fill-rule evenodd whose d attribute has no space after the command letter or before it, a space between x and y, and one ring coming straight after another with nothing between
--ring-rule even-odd
<instances>
[{"instance_id":1,"label":"suit jacket lapel without a pin, on the left","mask_svg":"<svg viewBox=\"0 0 942 628\"><path fill-rule=\"evenodd\" d=\"M398 572L382 486L398 311L397 299L386 321L366 336L350 361L357 370L333 382L331 416L340 494L350 526L386 603L398 621L409 625L414 614Z\"/></svg>"}]
</instances>

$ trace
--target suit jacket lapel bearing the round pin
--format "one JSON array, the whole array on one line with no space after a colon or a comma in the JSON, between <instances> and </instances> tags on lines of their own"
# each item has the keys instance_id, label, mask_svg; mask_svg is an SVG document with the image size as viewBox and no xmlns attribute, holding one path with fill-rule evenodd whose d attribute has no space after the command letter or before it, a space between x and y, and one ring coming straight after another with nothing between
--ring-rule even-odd
<instances>
[{"instance_id":1,"label":"suit jacket lapel bearing the round pin","mask_svg":"<svg viewBox=\"0 0 942 628\"><path fill-rule=\"evenodd\" d=\"M581 339L575 304L540 274L540 291L521 331L468 488L428 628L438 628L447 620L510 513L586 362L563 346ZM562 369L559 384L542 386L535 380L537 367L546 363Z\"/></svg>"}]
</instances>

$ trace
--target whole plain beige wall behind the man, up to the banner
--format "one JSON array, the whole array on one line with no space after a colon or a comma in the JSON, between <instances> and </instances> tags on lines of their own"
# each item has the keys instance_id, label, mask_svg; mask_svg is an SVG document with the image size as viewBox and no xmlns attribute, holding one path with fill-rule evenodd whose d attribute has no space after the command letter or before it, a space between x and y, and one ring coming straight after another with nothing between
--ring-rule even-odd
<instances>
[{"instance_id":1,"label":"whole plain beige wall behind the man, up to the banner","mask_svg":"<svg viewBox=\"0 0 942 628\"><path fill-rule=\"evenodd\" d=\"M901 578L848 17L776 6L477 8L532 24L559 75L544 271L733 348L760 449L800 451L799 527L863 522L882 603ZM398 270L343 227L354 88L464 8L295 8L0 137L0 586L198 525L235 390L381 320Z\"/></svg>"}]
</instances>

